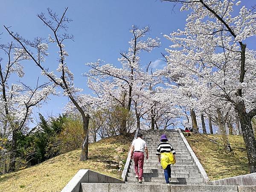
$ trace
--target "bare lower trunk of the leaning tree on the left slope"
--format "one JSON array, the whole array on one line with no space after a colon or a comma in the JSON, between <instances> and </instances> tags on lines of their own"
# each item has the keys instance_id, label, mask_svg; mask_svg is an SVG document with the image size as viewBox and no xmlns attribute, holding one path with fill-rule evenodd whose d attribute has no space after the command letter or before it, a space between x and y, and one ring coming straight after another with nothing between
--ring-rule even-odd
<instances>
[{"instance_id":1,"label":"bare lower trunk of the leaning tree on the left slope","mask_svg":"<svg viewBox=\"0 0 256 192\"><path fill-rule=\"evenodd\" d=\"M81 157L80 157L81 161L85 161L88 159L89 120L90 120L89 114L87 114L86 116L85 115L83 116L83 129L84 129L85 137L82 145L82 151L81 151Z\"/></svg>"}]
</instances>

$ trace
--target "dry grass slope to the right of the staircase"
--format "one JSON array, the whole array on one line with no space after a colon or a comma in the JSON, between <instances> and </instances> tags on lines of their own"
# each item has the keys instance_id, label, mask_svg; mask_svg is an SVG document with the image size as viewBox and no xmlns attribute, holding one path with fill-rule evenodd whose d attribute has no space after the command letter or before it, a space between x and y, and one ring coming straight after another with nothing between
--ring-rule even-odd
<instances>
[{"instance_id":1,"label":"dry grass slope to the right of the staircase","mask_svg":"<svg viewBox=\"0 0 256 192\"><path fill-rule=\"evenodd\" d=\"M210 180L248 174L248 160L241 135L228 136L232 152L224 150L221 135L184 134Z\"/></svg>"}]
</instances>

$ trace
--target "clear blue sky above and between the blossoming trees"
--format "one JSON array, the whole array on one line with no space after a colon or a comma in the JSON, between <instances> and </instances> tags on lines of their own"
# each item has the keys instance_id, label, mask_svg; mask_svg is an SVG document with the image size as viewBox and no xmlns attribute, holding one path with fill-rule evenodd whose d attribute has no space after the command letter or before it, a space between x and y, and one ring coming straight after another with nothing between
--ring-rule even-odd
<instances>
[{"instance_id":1,"label":"clear blue sky above and between the blossoming trees","mask_svg":"<svg viewBox=\"0 0 256 192\"><path fill-rule=\"evenodd\" d=\"M247 7L255 4L255 0L243 0L242 5ZM141 55L143 64L155 61L155 67L163 67L157 61L160 52L169 46L161 33L169 34L177 29L183 29L188 12L180 12L175 8L172 12L172 3L161 3L159 0L4 0L0 6L0 33L3 32L0 44L11 41L3 25L12 26L11 30L19 32L25 38L42 36L47 38L49 30L43 26L36 14L46 12L47 7L61 14L65 7L69 7L67 16L73 19L69 25L69 33L75 36L75 42L65 44L69 53L67 63L75 75L77 87L87 90L86 79L81 73L87 71L85 63L96 61L98 58L119 66L120 50L128 48L131 38L129 29L132 25L150 26L151 37L161 38L162 46L151 54ZM255 49L253 42L248 42L248 48ZM56 50L56 49L55 49ZM56 50L57 51L57 50ZM45 63L47 67L55 70L57 53L52 52ZM33 86L40 77L41 82L47 81L40 75L40 70L32 62L24 64L25 77L19 79L12 77L13 81L23 81ZM64 97L51 97L48 105L40 108L44 115L61 113L61 108L67 102Z\"/></svg>"}]
</instances>

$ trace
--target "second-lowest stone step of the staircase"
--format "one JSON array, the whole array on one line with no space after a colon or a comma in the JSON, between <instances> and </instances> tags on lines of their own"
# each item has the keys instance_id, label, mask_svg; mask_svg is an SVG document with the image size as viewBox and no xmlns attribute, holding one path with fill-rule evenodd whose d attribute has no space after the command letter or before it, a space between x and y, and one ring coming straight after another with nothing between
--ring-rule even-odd
<instances>
[{"instance_id":1,"label":"second-lowest stone step of the staircase","mask_svg":"<svg viewBox=\"0 0 256 192\"><path fill-rule=\"evenodd\" d=\"M135 173L128 173L128 177L135 177ZM157 177L157 178L164 178L163 173L144 173L143 177L145 177L145 180L147 180L147 177ZM172 178L201 178L201 173L172 173Z\"/></svg>"}]
</instances>

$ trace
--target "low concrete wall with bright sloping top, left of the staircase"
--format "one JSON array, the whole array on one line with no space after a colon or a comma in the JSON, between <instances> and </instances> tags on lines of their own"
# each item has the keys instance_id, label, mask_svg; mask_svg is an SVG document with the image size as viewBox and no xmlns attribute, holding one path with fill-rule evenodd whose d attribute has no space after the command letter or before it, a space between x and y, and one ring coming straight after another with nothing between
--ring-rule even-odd
<instances>
[{"instance_id":1,"label":"low concrete wall with bright sloping top, left of the staircase","mask_svg":"<svg viewBox=\"0 0 256 192\"><path fill-rule=\"evenodd\" d=\"M81 183L125 183L123 180L93 172L89 169L80 169L67 183L61 192L80 192Z\"/></svg>"}]
</instances>

